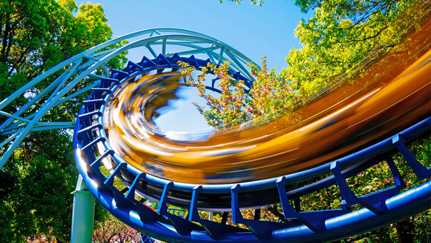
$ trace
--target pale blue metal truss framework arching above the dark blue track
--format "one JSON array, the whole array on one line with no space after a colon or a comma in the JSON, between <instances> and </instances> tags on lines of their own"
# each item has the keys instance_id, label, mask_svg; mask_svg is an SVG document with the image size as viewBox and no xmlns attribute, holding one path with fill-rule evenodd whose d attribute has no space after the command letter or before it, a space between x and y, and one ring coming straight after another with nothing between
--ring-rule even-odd
<instances>
[{"instance_id":1,"label":"pale blue metal truss framework arching above the dark blue track","mask_svg":"<svg viewBox=\"0 0 431 243\"><path fill-rule=\"evenodd\" d=\"M138 38L138 40L121 47L113 47L120 41L130 38ZM180 55L204 54L213 63L229 61L232 70L240 72L252 81L254 80L246 69L247 63L252 62L250 59L229 45L205 34L178 28L151 28L108 40L59 63L0 102L0 115L7 118L0 125L0 135L7 136L6 139L0 141L0 148L6 149L7 147L0 159L0 169L3 168L7 159L30 132L61 128L73 129L75 121L42 122L41 119L53 107L97 87L100 84L100 78L109 77L111 73L107 69L106 63L110 59L137 47L146 48L154 58L158 55L156 53L170 57L174 53L169 53L168 50L174 46L177 49L178 47L181 48L182 51L178 52ZM99 69L103 70L103 76L95 74ZM58 75L58 72L62 73ZM81 87L78 91L71 92L82 81L88 83L89 80L93 82ZM36 88L42 81L48 82L47 86L43 89ZM24 106L13 114L2 111L31 89L36 89L37 94L34 97L28 97L30 99ZM41 100L46 101L43 102L40 109L30 112L34 104L41 102ZM22 116L23 114L25 116Z\"/></svg>"}]
</instances>

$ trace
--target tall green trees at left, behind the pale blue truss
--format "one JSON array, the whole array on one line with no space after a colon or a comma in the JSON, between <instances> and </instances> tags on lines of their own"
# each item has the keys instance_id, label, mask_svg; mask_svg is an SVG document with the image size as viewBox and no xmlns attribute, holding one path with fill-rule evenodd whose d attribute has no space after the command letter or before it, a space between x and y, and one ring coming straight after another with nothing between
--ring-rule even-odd
<instances>
[{"instance_id":1,"label":"tall green trees at left, behind the pale blue truss","mask_svg":"<svg viewBox=\"0 0 431 243\"><path fill-rule=\"evenodd\" d=\"M0 9L0 100L62 60L112 37L100 4L78 7L73 0L2 0ZM108 68L121 68L126 62L125 54L111 59ZM3 111L16 112L63 71L27 90ZM93 81L84 79L70 92ZM51 109L42 121L75 120L87 95L83 93ZM28 108L23 116L37 111L48 96ZM6 117L0 118L0 122L5 120ZM1 137L5 139L4 135ZM4 153L4 148L0 153ZM70 193L78 177L70 131L29 134L0 176L0 238L4 242L24 242L40 235L53 237L57 242L69 240L73 199ZM96 218L103 218L106 212L97 207Z\"/></svg>"}]
</instances>

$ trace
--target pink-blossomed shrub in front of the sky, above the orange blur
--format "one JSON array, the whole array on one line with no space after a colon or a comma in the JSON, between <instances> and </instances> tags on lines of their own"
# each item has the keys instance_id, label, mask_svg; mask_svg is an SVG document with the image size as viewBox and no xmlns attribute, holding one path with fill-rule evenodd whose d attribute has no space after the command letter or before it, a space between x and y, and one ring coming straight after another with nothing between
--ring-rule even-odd
<instances>
[{"instance_id":1,"label":"pink-blossomed shrub in front of the sky, above the orange blur","mask_svg":"<svg viewBox=\"0 0 431 243\"><path fill-rule=\"evenodd\" d=\"M206 106L194 105L213 127L228 128L252 119L275 117L289 111L299 101L296 95L298 81L290 80L286 72L278 74L275 69L268 70L265 56L262 56L261 70L248 64L252 75L256 77L249 92L243 80L235 80L228 74L228 61L222 65L208 63L196 79L193 78L194 67L181 61L178 64L183 68L181 73L186 76L187 85L197 87L197 95L206 100ZM208 72L219 80L221 94L218 98L206 92L203 82Z\"/></svg>"}]
</instances>

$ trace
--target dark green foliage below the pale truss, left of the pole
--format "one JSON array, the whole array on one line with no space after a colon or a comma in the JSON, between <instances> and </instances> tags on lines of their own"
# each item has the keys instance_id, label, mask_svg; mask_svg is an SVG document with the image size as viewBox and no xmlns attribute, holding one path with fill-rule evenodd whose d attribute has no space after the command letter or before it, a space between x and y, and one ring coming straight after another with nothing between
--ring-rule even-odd
<instances>
[{"instance_id":1,"label":"dark green foliage below the pale truss, left of the pole","mask_svg":"<svg viewBox=\"0 0 431 243\"><path fill-rule=\"evenodd\" d=\"M64 133L64 132L63 132ZM44 233L67 241L76 183L70 139L58 131L33 134L1 171L12 190L3 194L0 235L8 242ZM10 177L10 178L8 178Z\"/></svg>"}]
</instances>

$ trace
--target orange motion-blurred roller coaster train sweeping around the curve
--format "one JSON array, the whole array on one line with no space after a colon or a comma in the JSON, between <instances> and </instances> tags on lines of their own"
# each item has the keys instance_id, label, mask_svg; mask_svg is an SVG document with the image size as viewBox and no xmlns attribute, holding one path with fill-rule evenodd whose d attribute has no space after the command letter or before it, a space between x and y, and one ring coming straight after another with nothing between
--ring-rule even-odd
<instances>
[{"instance_id":1,"label":"orange motion-blurred roller coaster train sweeping around the curve","mask_svg":"<svg viewBox=\"0 0 431 243\"><path fill-rule=\"evenodd\" d=\"M124 117L119 104L141 81L128 84L118 100L112 101L109 143L136 168L196 184L259 180L329 162L430 115L430 25L426 22L390 53L366 66L367 72L319 100L266 125L217 132L203 141L181 143L136 128L129 136L135 125ZM147 95L130 104L130 115L139 112L136 107L141 103L149 102L151 92L159 92L160 100L145 111L151 111L145 118L152 127L152 113L172 99L169 92L175 87L147 89ZM299 121L292 122L298 117Z\"/></svg>"}]
</instances>

